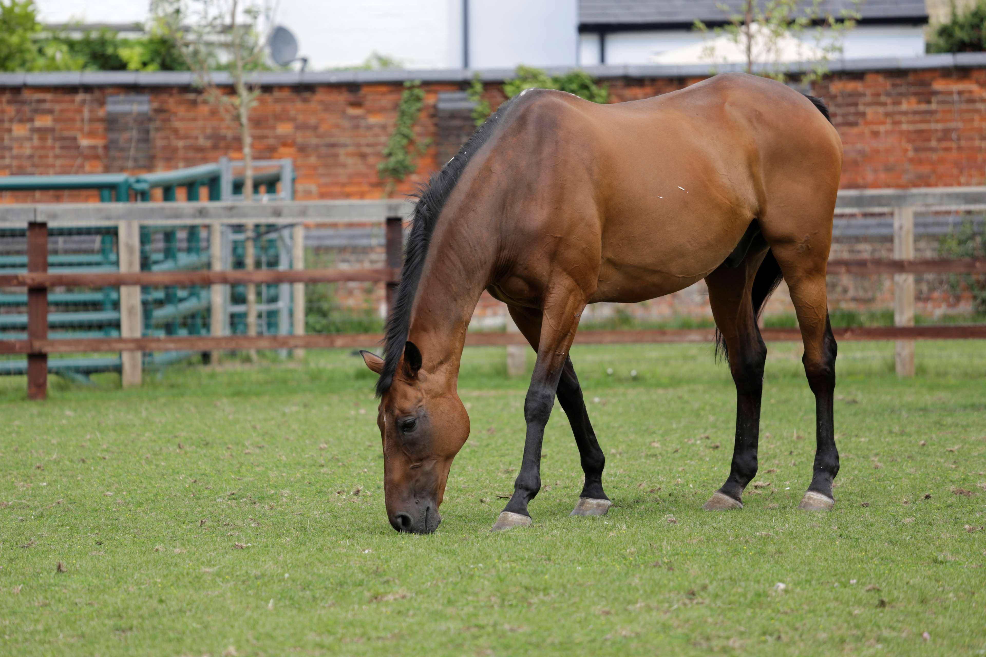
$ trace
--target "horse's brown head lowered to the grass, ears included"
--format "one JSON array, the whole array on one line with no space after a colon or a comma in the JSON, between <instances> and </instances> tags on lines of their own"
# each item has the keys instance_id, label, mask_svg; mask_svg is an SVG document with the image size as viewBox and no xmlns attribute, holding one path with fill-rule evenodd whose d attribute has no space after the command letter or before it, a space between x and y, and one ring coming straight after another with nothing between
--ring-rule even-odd
<instances>
[{"instance_id":1,"label":"horse's brown head lowered to the grass, ears included","mask_svg":"<svg viewBox=\"0 0 986 657\"><path fill-rule=\"evenodd\" d=\"M380 374L384 360L361 352ZM451 380L450 380L451 379ZM456 393L456 377L421 368L421 352L408 342L377 413L384 443L387 518L398 532L430 534L442 517L449 469L469 436L469 416Z\"/></svg>"}]
</instances>

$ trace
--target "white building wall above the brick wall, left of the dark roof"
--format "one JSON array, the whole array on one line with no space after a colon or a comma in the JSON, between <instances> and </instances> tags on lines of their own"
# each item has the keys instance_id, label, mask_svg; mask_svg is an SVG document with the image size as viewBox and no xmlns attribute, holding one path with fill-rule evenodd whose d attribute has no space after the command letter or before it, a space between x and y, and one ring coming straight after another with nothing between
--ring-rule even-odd
<instances>
[{"instance_id":1,"label":"white building wall above the brick wall, left of the dark roof","mask_svg":"<svg viewBox=\"0 0 986 657\"><path fill-rule=\"evenodd\" d=\"M44 23L142 23L149 0L35 0ZM460 68L462 0L280 0L276 22L312 70L358 66L374 52L410 69ZM473 68L573 66L577 0L469 0Z\"/></svg>"}]
</instances>

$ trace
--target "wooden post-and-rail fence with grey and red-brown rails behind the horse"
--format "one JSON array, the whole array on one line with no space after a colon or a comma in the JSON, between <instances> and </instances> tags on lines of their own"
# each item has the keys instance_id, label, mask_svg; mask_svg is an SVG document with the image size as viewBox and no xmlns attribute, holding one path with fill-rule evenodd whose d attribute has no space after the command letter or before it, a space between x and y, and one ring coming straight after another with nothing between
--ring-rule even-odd
<instances>
[{"instance_id":1,"label":"wooden post-and-rail fence with grey and red-brown rails behind the horse","mask_svg":"<svg viewBox=\"0 0 986 657\"><path fill-rule=\"evenodd\" d=\"M960 190L968 194L967 190ZM979 190L972 190L981 195ZM936 195L938 194L938 195ZM932 198L942 202L956 203L955 194L937 192ZM944 196L942 195L944 194ZM972 200L982 203L979 196ZM866 211L874 207L882 208L885 203L901 199L911 202L920 198L914 190L897 198L899 194L852 194L842 210L852 212L857 208ZM941 196L941 198L940 198ZM959 194L961 196L961 194ZM906 198L905 198L906 197ZM984 197L986 198L986 197ZM960 200L960 199L959 199ZM842 195L840 194L840 202ZM168 207L150 208L156 204L143 204L140 217L128 217L116 208L105 206L66 207L33 206L31 208L0 209L0 226L28 224L28 272L24 274L0 276L0 287L23 287L28 289L28 337L27 340L0 340L0 354L24 354L28 356L28 396L31 399L44 399L47 387L47 356L49 354L120 352L123 355L123 381L126 384L139 383L141 352L165 351L212 351L256 350L256 349L294 349L295 354L304 349L315 348L355 348L372 347L382 336L377 334L305 335L304 304L305 284L367 282L383 283L387 286L387 306L392 305L393 294L399 280L399 267L402 251L402 215L408 205L394 202L360 203L309 203L286 204L283 207L270 204L266 209L261 204L196 204L194 208L179 206L186 204L166 204ZM846 208L846 206L852 206ZM369 209L369 211L368 211ZM914 207L911 205L895 207L894 217L894 259L832 260L828 263L829 275L878 275L894 276L895 306L894 326L861 327L835 329L839 340L894 340L897 373L911 375L914 372L914 340L937 339L986 339L986 325L974 326L914 326L914 275L915 274L961 274L986 273L986 260L915 260L914 256ZM163 214L162 214L163 213ZM248 214L246 217L244 214ZM372 215L372 217L368 217ZM383 216L377 216L383 215ZM240 270L220 271L221 262L211 258L212 271L140 272L139 253L134 256L128 251L134 244L131 233L139 223L184 223L208 225L213 238L221 224L256 223L293 224L295 247L290 270ZM386 267L376 269L304 269L304 222L321 223L384 223L386 233ZM47 226L52 222L58 226L86 226L116 224L120 230L120 271L93 274L53 274L47 273ZM124 252L127 251L127 252ZM124 266L125 263L126 266ZM134 266L134 263L137 263ZM217 302L222 295L217 294L222 285L276 284L293 285L295 316L294 335L242 336L222 335L222 324L213 322L212 335L194 337L143 337L140 331L140 286L212 286L213 316L218 316ZM47 337L47 291L60 287L119 287L121 316L130 316L132 321L121 322L119 338L63 339L51 340ZM128 294L124 294L128 293ZM133 306L133 307L130 307ZM764 340L800 340L798 329L765 328ZM708 342L712 340L712 329L680 330L619 330L582 331L576 336L579 344L627 344L627 343L671 343ZM466 337L466 345L513 346L525 345L524 337L516 332L472 332ZM137 356L137 358L133 358ZM128 365L129 363L129 365Z\"/></svg>"}]
</instances>

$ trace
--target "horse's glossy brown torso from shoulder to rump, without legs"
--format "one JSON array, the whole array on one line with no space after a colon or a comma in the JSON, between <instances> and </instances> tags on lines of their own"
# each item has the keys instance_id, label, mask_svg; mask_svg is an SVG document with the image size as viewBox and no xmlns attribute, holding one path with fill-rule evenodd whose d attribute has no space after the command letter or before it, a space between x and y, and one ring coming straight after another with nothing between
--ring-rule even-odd
<instances>
[{"instance_id":1,"label":"horse's glossy brown torso from shoulder to rump, without legs","mask_svg":"<svg viewBox=\"0 0 986 657\"><path fill-rule=\"evenodd\" d=\"M775 198L809 190L834 203L838 135L774 81L728 74L653 99L531 92L518 102L489 164L514 163L527 183L516 259L588 265L594 301L664 296L705 278Z\"/></svg>"}]
</instances>

